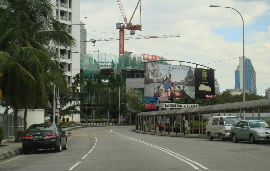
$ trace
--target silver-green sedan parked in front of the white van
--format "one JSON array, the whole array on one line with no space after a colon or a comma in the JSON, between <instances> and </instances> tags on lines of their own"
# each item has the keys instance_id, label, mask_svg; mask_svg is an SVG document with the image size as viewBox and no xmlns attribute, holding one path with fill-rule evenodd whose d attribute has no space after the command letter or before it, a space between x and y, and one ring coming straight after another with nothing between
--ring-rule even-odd
<instances>
[{"instance_id":1,"label":"silver-green sedan parked in front of the white van","mask_svg":"<svg viewBox=\"0 0 270 171\"><path fill-rule=\"evenodd\" d=\"M256 142L270 142L270 125L262 120L241 120L231 127L232 140L248 140L251 144Z\"/></svg>"}]
</instances>

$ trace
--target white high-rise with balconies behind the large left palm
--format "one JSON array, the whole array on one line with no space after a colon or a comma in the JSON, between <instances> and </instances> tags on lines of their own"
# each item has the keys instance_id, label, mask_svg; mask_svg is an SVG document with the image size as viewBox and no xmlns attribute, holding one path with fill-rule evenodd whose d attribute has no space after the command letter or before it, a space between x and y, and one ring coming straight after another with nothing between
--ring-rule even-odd
<instances>
[{"instance_id":1,"label":"white high-rise with balconies behind the large left palm","mask_svg":"<svg viewBox=\"0 0 270 171\"><path fill-rule=\"evenodd\" d=\"M70 51L63 46L55 45L59 54L60 68L64 71L66 80L72 83L72 76L80 72L80 1L53 0L56 19L65 25L69 34L77 41L75 50Z\"/></svg>"}]
</instances>

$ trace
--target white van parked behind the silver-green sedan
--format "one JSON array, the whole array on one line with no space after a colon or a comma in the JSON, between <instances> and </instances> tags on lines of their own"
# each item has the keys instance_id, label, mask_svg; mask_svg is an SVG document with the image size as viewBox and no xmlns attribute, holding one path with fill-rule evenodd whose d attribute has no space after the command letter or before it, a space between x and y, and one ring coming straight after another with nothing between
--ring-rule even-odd
<instances>
[{"instance_id":1,"label":"white van parked behind the silver-green sedan","mask_svg":"<svg viewBox=\"0 0 270 171\"><path fill-rule=\"evenodd\" d=\"M224 138L231 138L231 127L240 120L242 119L237 116L211 116L207 121L205 133L209 140L218 137L220 141L224 141Z\"/></svg>"}]
</instances>

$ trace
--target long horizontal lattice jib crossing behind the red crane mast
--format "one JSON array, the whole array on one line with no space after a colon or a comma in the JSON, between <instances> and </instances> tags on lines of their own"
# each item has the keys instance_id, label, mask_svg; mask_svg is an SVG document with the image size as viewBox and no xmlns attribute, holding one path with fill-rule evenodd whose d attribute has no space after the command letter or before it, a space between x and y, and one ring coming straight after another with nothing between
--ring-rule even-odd
<instances>
[{"instance_id":1,"label":"long horizontal lattice jib crossing behind the red crane mast","mask_svg":"<svg viewBox=\"0 0 270 171\"><path fill-rule=\"evenodd\" d=\"M180 36L179 36L179 34L174 34L174 35L162 35L162 36L125 37L124 39L125 40L133 40L133 39L152 39L152 38L167 38L167 37L180 37ZM95 46L95 43L97 41L110 41L110 40L120 40L120 38L90 39L90 40L80 40L80 42L93 42L94 43L93 46ZM166 54L164 54L164 55L166 55Z\"/></svg>"}]
</instances>

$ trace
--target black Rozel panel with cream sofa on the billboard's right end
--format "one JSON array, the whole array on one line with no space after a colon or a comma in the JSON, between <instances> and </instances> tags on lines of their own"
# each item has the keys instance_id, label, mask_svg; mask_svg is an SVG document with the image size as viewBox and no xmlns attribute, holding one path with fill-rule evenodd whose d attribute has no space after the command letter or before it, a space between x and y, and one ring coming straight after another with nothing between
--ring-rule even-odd
<instances>
[{"instance_id":1,"label":"black Rozel panel with cream sofa on the billboard's right end","mask_svg":"<svg viewBox=\"0 0 270 171\"><path fill-rule=\"evenodd\" d=\"M215 98L215 74L214 70L195 68L195 98Z\"/></svg>"}]
</instances>

